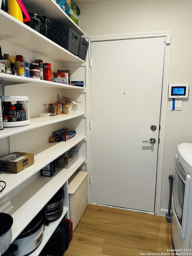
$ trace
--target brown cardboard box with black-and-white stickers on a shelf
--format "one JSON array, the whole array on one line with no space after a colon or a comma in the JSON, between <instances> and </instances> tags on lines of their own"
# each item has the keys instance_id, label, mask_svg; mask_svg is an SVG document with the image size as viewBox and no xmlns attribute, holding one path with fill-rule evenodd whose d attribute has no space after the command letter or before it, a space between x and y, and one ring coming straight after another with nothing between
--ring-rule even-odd
<instances>
[{"instance_id":1,"label":"brown cardboard box with black-and-white stickers on a shelf","mask_svg":"<svg viewBox=\"0 0 192 256\"><path fill-rule=\"evenodd\" d=\"M13 152L0 158L0 170L9 173L18 173L32 164L32 153Z\"/></svg>"}]
</instances>

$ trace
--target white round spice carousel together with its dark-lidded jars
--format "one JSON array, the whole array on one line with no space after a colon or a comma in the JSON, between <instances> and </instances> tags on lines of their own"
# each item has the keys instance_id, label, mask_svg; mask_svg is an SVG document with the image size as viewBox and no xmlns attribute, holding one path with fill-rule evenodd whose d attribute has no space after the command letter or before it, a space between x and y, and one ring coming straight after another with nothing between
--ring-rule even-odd
<instances>
[{"instance_id":1,"label":"white round spice carousel together with its dark-lidded jars","mask_svg":"<svg viewBox=\"0 0 192 256\"><path fill-rule=\"evenodd\" d=\"M29 98L27 96L1 96L1 99L3 101L3 107L4 107L4 111L5 113L3 112L4 114L4 122L3 122L3 125L4 125L4 128L5 127L13 127L13 126L21 126L21 125L29 125L30 124L30 116L29 116ZM6 105L6 103L9 103L9 105ZM16 119L16 121L13 121L13 122L6 122L6 116L8 115L9 116L9 113L7 113L7 111L10 111L8 110L8 107L13 107L10 106L10 103L11 104L15 104L15 117L16 117L16 114L18 112L18 120ZM18 107L20 106L20 107ZM6 108L7 107L7 108ZM6 111L7 110L7 111ZM24 114L23 114L23 111L24 111ZM22 117L20 116L22 113ZM26 117L26 120L25 118L23 117L25 116ZM23 121L22 121L23 120ZM18 122L20 121L20 122Z\"/></svg>"}]
</instances>

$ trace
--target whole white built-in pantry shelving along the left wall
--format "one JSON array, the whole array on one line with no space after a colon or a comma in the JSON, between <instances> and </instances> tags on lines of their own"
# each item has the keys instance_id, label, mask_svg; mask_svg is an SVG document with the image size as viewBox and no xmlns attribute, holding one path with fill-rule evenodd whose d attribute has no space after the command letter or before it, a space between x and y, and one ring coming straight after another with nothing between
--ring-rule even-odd
<instances>
[{"instance_id":1,"label":"whole white built-in pantry shelving along the left wall","mask_svg":"<svg viewBox=\"0 0 192 256\"><path fill-rule=\"evenodd\" d=\"M79 35L84 35L84 32L61 10L54 0L23 0L27 11L37 13L38 15L45 15L51 20L53 27L71 27ZM1 1L0 1L1 3ZM73 63L76 65L84 65L84 60L72 53L68 52L64 48L55 44L48 38L44 37L40 33L31 29L19 20L0 10L0 22L4 24L0 27L0 41L7 41L16 47L22 47L24 50L28 50L32 53L45 56L53 61L60 62L66 65ZM6 24L6 26L5 26ZM63 25L63 26L62 26ZM38 47L35 43L38 42ZM61 68L62 69L62 68ZM70 68L69 68L70 69ZM23 84L23 90L27 87L33 87L34 91L37 87L51 88L54 90L63 89L66 92L75 92L79 95L85 94L86 89L78 86L63 85L59 83L53 83L45 80L36 80L32 78L13 76L8 74L0 74L0 90L1 95L5 94L5 86L17 86ZM9 95L14 96L14 95ZM70 113L67 115L49 116L46 118L36 117L30 118L29 125L23 125L19 127L4 128L0 131L0 143L4 138L8 138L8 142L12 137L17 134L29 132L31 130L46 127L49 125L55 125L63 122L73 121L78 118L85 119L85 110L77 113ZM78 127L78 125L74 125ZM82 129L82 127L81 127ZM35 163L25 170L19 173L0 173L0 180L6 182L5 189L0 193L0 199L9 197L13 209L9 214L13 217L12 226L12 242L22 232L22 230L32 221L32 219L38 214L46 203L52 198L52 196L62 187L64 189L64 208L62 216L53 221L50 226L45 227L44 237L39 247L30 255L39 255L41 250L45 246L46 242L51 237L52 233L57 228L60 221L66 216L69 218L68 210L68 179L71 175L84 163L86 163L85 153L81 153L78 160L69 168L55 168L55 173L52 177L41 176L41 169L49 164L51 161L62 155L67 150L86 143L86 128L76 134L75 137L67 142L59 143L44 143L37 149L33 149L30 153L34 154ZM9 145L7 146L9 147ZM80 147L80 146L79 146ZM19 151L19 150L17 150ZM84 152L84 151L83 151ZM1 255L1 254L0 254Z\"/></svg>"}]
</instances>

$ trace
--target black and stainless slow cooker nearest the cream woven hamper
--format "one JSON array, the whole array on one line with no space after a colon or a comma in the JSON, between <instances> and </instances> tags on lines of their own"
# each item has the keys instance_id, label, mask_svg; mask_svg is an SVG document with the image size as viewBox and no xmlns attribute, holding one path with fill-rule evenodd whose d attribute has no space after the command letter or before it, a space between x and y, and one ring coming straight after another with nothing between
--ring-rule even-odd
<instances>
[{"instance_id":1,"label":"black and stainless slow cooker nearest the cream woven hamper","mask_svg":"<svg viewBox=\"0 0 192 256\"><path fill-rule=\"evenodd\" d=\"M51 198L45 206L46 221L55 221L63 213L64 191L62 188Z\"/></svg>"}]
</instances>

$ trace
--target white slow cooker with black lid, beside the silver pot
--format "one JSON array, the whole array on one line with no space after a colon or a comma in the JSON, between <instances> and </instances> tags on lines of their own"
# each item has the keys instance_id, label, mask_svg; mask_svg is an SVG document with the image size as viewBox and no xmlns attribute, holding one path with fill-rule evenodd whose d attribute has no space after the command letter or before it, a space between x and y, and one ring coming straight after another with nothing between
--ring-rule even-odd
<instances>
[{"instance_id":1,"label":"white slow cooker with black lid, beside the silver pot","mask_svg":"<svg viewBox=\"0 0 192 256\"><path fill-rule=\"evenodd\" d=\"M18 245L18 249L14 251L16 256L27 255L40 245L44 235L44 222L45 214L42 210L13 241L12 245Z\"/></svg>"}]
</instances>

